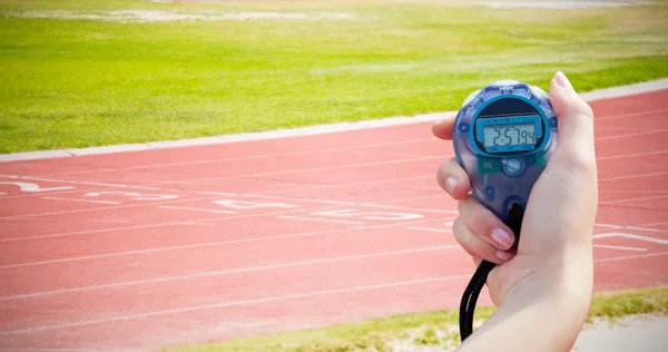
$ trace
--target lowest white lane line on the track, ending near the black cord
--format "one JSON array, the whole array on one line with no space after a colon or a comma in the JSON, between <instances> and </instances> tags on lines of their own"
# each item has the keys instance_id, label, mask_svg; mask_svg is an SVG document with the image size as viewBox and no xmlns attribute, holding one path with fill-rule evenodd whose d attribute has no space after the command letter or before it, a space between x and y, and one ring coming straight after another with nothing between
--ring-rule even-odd
<instances>
[{"instance_id":1,"label":"lowest white lane line on the track, ending near the black cord","mask_svg":"<svg viewBox=\"0 0 668 352\"><path fill-rule=\"evenodd\" d=\"M458 280L458 278L471 278L471 274L439 276L439 277L430 277L430 278L422 278L422 280L391 282L391 283L375 284L375 285L364 285L364 286L354 286L354 287L345 287L345 289L287 294L287 295L282 295L282 296L272 296L272 297L263 297L263 299L254 299L254 300L243 300L243 301L185 306L185 307L165 310L165 311L156 311L156 312L148 312L148 313L139 313L139 314L128 314L128 315L111 316L111 317L104 317L104 319L96 319L96 320L88 320L88 321L79 321L79 322L73 322L73 323L65 323L65 324L56 324L56 325L43 325L43 326L22 329L22 330L2 331L2 332L0 332L0 336L36 333L36 332L52 331L52 330L62 330L62 329L68 329L68 327L87 326L87 325L94 325L94 324L105 324L105 323L137 320L137 319L151 317L151 316L163 316L163 315L170 315L170 314L188 313L188 312L204 311L204 310L212 310L212 309L263 304L263 303L272 303L272 302L297 300L297 299L310 299L310 297L337 294L337 293L351 293L351 292L360 292L360 291L369 291L369 290L438 283L438 282L444 282L444 281Z\"/></svg>"}]
</instances>

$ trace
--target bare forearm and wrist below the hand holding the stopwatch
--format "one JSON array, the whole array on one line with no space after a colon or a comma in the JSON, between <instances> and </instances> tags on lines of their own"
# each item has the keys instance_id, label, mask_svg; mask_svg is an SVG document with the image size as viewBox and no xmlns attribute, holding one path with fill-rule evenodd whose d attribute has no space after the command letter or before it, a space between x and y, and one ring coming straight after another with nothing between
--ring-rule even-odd
<instances>
[{"instance_id":1,"label":"bare forearm and wrist below the hand holding the stopwatch","mask_svg":"<svg viewBox=\"0 0 668 352\"><path fill-rule=\"evenodd\" d=\"M512 287L461 350L569 351L587 319L593 267L586 253L564 263Z\"/></svg>"}]
</instances>

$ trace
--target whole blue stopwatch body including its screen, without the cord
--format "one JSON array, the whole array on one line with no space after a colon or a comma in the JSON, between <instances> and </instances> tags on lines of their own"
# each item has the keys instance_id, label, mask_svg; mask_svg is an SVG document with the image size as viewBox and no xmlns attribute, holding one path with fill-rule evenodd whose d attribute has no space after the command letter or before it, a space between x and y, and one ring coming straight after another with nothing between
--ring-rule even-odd
<instances>
[{"instance_id":1,"label":"whole blue stopwatch body including its screen, without the cord","mask_svg":"<svg viewBox=\"0 0 668 352\"><path fill-rule=\"evenodd\" d=\"M557 116L540 88L500 80L472 92L456 115L452 140L471 192L501 221L522 209L557 146Z\"/></svg>"}]
</instances>

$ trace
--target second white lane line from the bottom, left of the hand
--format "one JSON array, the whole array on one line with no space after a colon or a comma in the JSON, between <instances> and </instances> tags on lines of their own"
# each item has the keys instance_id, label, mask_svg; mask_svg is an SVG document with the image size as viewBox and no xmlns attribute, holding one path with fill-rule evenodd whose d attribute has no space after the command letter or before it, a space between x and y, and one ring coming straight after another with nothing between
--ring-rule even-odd
<instances>
[{"instance_id":1,"label":"second white lane line from the bottom, left of the hand","mask_svg":"<svg viewBox=\"0 0 668 352\"><path fill-rule=\"evenodd\" d=\"M391 251L391 252L379 252L379 253L370 253L370 254L361 254L361 255L340 256L340 257L325 258L325 260L313 260L313 261L303 261L303 262L294 262L294 263L282 263L282 264L271 264L271 265L261 265L261 266L252 266L252 267L232 268L232 270L224 270L224 271L203 272L203 273L190 274L190 275L174 275L174 276L164 276L164 277L157 277L157 278L135 280L135 281L117 282L117 283L102 284L102 285L91 285L91 286L84 286L84 287L53 290L53 291L18 294L18 295L12 295L12 296L3 296L3 297L0 297L0 301L43 297L43 296L50 296L50 295L57 295L57 294L63 294L63 293L89 292L89 291L94 291L94 290L116 289L116 287L145 285L145 284L163 283L163 282L170 282L170 281L193 280L193 278L209 277L209 276L223 276L223 275L228 275L228 274L271 271L271 270L276 270L276 268L318 265L318 264L337 263L337 262L345 262L345 261L357 261L357 260L376 258L376 257L384 257L384 256L391 256L391 255L445 251L445 250L452 250L452 248L456 248L456 247L459 247L459 246L458 245L433 246L433 247L424 247L424 248L413 248L413 250L403 250L403 251Z\"/></svg>"}]
</instances>

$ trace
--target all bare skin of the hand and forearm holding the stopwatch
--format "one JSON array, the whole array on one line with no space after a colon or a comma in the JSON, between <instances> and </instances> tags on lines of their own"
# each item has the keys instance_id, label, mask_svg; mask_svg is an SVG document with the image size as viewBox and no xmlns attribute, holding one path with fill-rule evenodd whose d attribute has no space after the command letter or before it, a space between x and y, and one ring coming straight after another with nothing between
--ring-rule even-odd
<instances>
[{"instance_id":1,"label":"all bare skin of the hand and forearm holding the stopwatch","mask_svg":"<svg viewBox=\"0 0 668 352\"><path fill-rule=\"evenodd\" d=\"M593 113L562 72L550 82L558 146L529 197L517 253L514 234L470 194L454 158L436 174L459 202L454 237L472 256L499 264L488 277L494 315L462 351L569 351L587 319L592 294L592 233L598 204ZM452 139L454 117L433 134ZM503 233L507 235L504 236Z\"/></svg>"}]
</instances>

